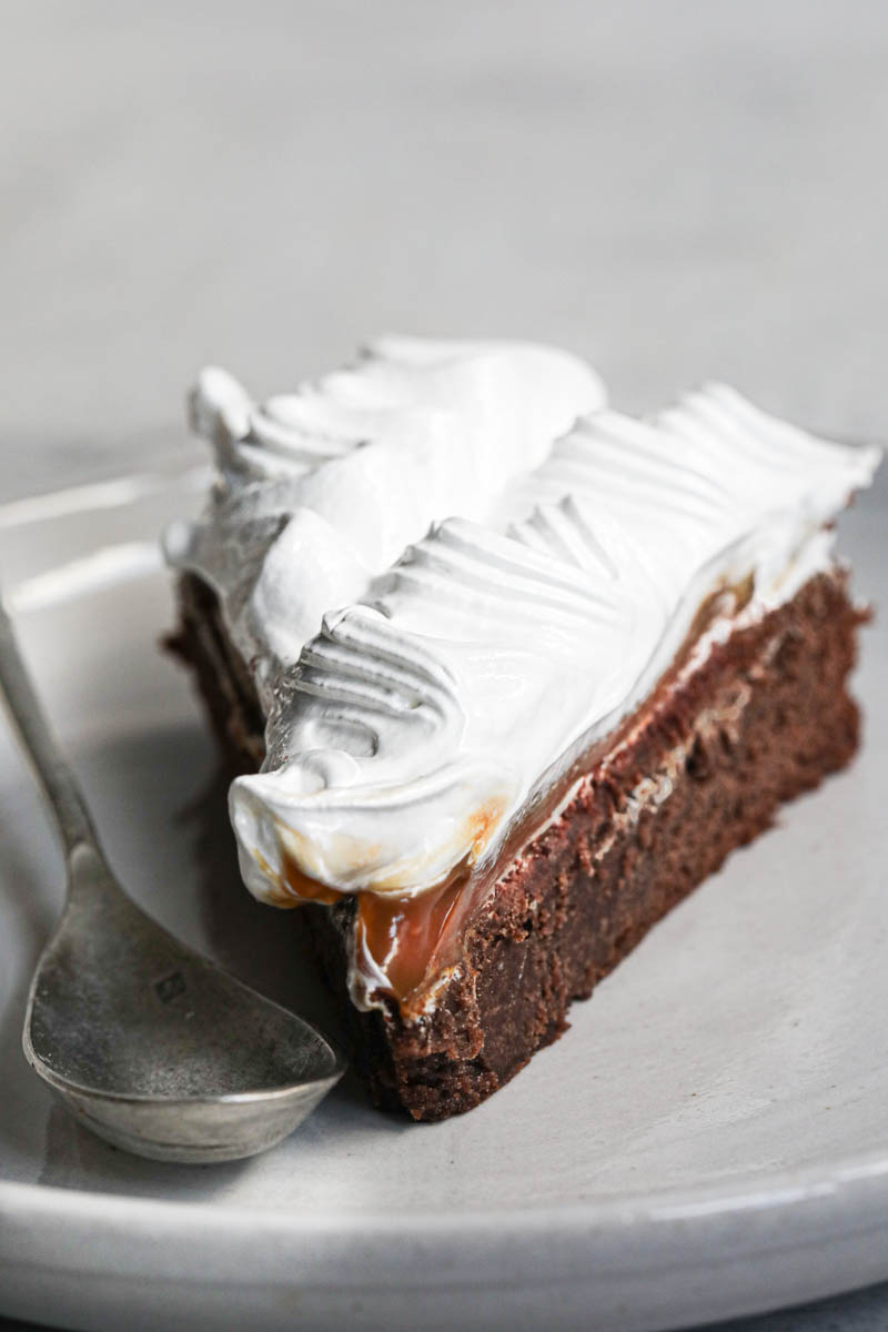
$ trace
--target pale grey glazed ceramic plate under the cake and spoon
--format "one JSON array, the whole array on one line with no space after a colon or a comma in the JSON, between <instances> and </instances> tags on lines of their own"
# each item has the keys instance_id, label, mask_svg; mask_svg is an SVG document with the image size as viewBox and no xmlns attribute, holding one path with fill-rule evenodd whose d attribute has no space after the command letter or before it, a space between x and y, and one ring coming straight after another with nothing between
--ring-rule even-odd
<instances>
[{"instance_id":1,"label":"pale grey glazed ceramic plate under the cake and spoon","mask_svg":"<svg viewBox=\"0 0 888 1332\"><path fill-rule=\"evenodd\" d=\"M294 916L238 884L213 747L157 651L172 611L152 541L200 480L0 510L4 575L124 880L329 1024ZM887 513L883 485L844 523L875 597ZM888 1276L885 678L876 625L853 769L734 855L486 1106L414 1127L346 1079L281 1148L214 1168L113 1151L24 1064L61 864L3 731L0 1312L114 1329L666 1328Z\"/></svg>"}]
</instances>

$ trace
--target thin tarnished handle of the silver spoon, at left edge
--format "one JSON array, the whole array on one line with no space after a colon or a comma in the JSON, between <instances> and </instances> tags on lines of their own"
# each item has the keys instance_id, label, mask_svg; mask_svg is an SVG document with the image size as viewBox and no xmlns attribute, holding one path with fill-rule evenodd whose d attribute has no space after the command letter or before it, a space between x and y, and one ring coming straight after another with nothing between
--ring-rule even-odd
<instances>
[{"instance_id":1,"label":"thin tarnished handle of the silver spoon, at left edge","mask_svg":"<svg viewBox=\"0 0 888 1332\"><path fill-rule=\"evenodd\" d=\"M71 855L84 842L96 846L96 830L87 805L35 693L1 591L0 695L56 815L65 854Z\"/></svg>"}]
</instances>

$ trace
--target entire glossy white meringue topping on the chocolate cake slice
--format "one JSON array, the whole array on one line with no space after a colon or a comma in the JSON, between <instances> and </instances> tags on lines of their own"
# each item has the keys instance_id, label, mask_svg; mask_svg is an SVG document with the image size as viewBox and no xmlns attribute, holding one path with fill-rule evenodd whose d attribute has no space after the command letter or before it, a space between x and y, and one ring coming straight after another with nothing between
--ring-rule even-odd
<instances>
[{"instance_id":1,"label":"entire glossy white meringue topping on the chocolate cake slice","mask_svg":"<svg viewBox=\"0 0 888 1332\"><path fill-rule=\"evenodd\" d=\"M268 753L230 813L257 896L298 896L289 867L401 896L493 858L710 594L751 575L748 618L829 566L880 457L718 385L646 422L602 404L509 344L383 340L262 408L204 373L222 482L168 553L256 658Z\"/></svg>"}]
</instances>

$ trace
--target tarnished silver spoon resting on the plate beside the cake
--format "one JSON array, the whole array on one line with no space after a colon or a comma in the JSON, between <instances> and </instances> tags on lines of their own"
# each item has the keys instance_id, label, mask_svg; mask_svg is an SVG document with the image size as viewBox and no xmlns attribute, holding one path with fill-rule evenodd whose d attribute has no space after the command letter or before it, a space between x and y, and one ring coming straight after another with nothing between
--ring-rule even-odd
<instances>
[{"instance_id":1,"label":"tarnished silver spoon resting on the plate beside the cake","mask_svg":"<svg viewBox=\"0 0 888 1332\"><path fill-rule=\"evenodd\" d=\"M68 896L31 983L23 1046L68 1110L168 1162L252 1156L338 1082L325 1038L177 943L108 868L0 597L0 695L56 815Z\"/></svg>"}]
</instances>

